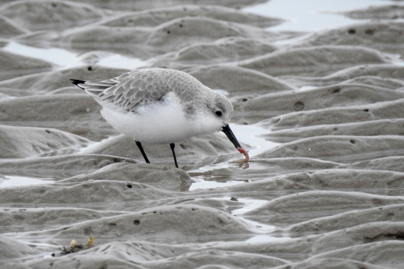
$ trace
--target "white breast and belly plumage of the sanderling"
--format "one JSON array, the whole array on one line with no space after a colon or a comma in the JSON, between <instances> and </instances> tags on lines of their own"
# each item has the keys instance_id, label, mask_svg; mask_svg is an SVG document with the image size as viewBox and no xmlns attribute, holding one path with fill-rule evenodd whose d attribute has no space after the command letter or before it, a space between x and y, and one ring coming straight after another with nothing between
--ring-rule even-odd
<instances>
[{"instance_id":1,"label":"white breast and belly plumage of the sanderling","mask_svg":"<svg viewBox=\"0 0 404 269\"><path fill-rule=\"evenodd\" d=\"M186 116L180 99L171 92L164 102L140 107L135 113L102 104L103 117L116 130L142 144L170 144L199 134L220 131L222 122L205 111Z\"/></svg>"}]
</instances>

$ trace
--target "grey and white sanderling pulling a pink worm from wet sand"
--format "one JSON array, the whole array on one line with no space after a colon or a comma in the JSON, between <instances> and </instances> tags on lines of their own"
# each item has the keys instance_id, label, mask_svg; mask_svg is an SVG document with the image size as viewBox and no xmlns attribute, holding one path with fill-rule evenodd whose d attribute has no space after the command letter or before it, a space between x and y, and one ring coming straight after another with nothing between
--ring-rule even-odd
<instances>
[{"instance_id":1,"label":"grey and white sanderling pulling a pink worm from wet sand","mask_svg":"<svg viewBox=\"0 0 404 269\"><path fill-rule=\"evenodd\" d=\"M175 142L217 131L223 131L248 161L229 127L229 99L184 72L150 68L109 80L71 81L102 105L107 122L135 140L146 163L150 162L141 143L170 144L178 167Z\"/></svg>"}]
</instances>

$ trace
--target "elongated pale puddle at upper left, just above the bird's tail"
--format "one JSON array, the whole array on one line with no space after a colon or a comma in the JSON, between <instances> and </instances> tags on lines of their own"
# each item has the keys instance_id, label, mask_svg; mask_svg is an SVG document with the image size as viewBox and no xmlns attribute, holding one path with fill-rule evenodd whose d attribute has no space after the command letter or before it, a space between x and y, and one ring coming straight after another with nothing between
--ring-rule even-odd
<instances>
[{"instance_id":1,"label":"elongated pale puddle at upper left, just above the bird's tail","mask_svg":"<svg viewBox=\"0 0 404 269\"><path fill-rule=\"evenodd\" d=\"M61 66L61 68L72 68L74 66L88 64L83 55L79 55L63 48L37 48L19 44L17 42L10 42L3 47L3 50L45 60L57 64ZM96 57L98 58L93 59L94 64L96 63L97 65L109 68L135 70L146 65L146 61L140 60L139 58L131 58L112 52L99 52L96 54Z\"/></svg>"}]
</instances>

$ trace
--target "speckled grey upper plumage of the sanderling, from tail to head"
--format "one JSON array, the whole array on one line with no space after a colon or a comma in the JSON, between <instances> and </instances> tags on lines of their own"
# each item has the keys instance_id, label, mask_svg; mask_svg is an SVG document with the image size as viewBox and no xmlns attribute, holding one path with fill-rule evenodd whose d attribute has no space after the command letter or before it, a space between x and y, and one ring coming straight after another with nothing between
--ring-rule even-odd
<instances>
[{"instance_id":1,"label":"speckled grey upper plumage of the sanderling, from tail to head","mask_svg":"<svg viewBox=\"0 0 404 269\"><path fill-rule=\"evenodd\" d=\"M103 102L114 103L132 112L151 102L164 101L166 95L172 91L181 99L187 114L192 114L195 106L209 109L212 102L222 98L209 98L212 96L208 93L211 89L184 72L161 68L135 70L114 79L87 81L78 86ZM232 112L231 104L230 107L224 106L222 109Z\"/></svg>"}]
</instances>

